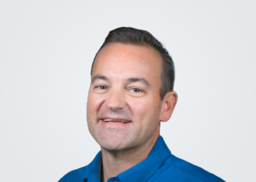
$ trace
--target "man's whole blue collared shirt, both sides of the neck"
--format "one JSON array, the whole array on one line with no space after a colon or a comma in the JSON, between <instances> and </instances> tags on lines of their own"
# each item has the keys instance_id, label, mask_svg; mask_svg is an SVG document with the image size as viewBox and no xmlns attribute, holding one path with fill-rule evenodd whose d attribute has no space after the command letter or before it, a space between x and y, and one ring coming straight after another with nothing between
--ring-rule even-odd
<instances>
[{"instance_id":1,"label":"man's whole blue collared shirt, both sides of the neck","mask_svg":"<svg viewBox=\"0 0 256 182\"><path fill-rule=\"evenodd\" d=\"M102 153L100 152L89 166L84 166L67 173L59 182L99 182L101 170ZM108 179L108 182L144 181L219 182L224 180L198 166L194 166L183 159L175 157L160 136L147 159L142 160L139 164L131 167L127 171L121 172L116 177Z\"/></svg>"}]
</instances>

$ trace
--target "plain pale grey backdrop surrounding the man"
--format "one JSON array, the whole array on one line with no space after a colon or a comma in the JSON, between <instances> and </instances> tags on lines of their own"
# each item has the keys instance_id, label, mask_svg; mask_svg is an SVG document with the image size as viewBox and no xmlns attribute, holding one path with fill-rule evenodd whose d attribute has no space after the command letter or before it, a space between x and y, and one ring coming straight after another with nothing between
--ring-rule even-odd
<instances>
[{"instance_id":1,"label":"plain pale grey backdrop surrounding the man","mask_svg":"<svg viewBox=\"0 0 256 182\"><path fill-rule=\"evenodd\" d=\"M172 55L179 95L161 135L226 181L255 178L255 2L1 1L0 181L55 182L100 150L86 122L108 31L146 29Z\"/></svg>"}]
</instances>

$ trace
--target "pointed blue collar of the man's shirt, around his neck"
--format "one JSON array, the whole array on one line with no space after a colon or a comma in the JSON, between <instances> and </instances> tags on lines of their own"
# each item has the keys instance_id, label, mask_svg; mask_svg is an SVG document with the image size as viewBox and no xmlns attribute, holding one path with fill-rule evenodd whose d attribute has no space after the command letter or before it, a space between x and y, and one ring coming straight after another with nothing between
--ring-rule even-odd
<instances>
[{"instance_id":1,"label":"pointed blue collar of the man's shirt, around his neck","mask_svg":"<svg viewBox=\"0 0 256 182\"><path fill-rule=\"evenodd\" d=\"M142 160L139 164L129 168L125 172L121 172L114 177L119 179L121 182L130 181L148 181L148 179L159 169L165 160L171 156L172 153L169 151L163 138L159 136L156 140L154 147L148 155L148 158ZM99 152L95 159L89 164L89 170L86 170L85 179L88 181L100 181L101 169L102 169L102 152ZM112 179L112 178L111 178Z\"/></svg>"}]
</instances>

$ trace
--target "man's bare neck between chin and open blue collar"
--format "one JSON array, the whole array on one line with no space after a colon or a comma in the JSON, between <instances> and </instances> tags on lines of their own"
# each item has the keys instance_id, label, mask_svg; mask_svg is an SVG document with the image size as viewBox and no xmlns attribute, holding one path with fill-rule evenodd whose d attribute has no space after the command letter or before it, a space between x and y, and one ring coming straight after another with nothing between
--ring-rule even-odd
<instances>
[{"instance_id":1,"label":"man's bare neck between chin and open blue collar","mask_svg":"<svg viewBox=\"0 0 256 182\"><path fill-rule=\"evenodd\" d=\"M102 148L101 181L107 182L109 178L117 176L119 173L128 170L146 159L158 137L159 133L148 140L145 145L128 150L108 151Z\"/></svg>"}]
</instances>

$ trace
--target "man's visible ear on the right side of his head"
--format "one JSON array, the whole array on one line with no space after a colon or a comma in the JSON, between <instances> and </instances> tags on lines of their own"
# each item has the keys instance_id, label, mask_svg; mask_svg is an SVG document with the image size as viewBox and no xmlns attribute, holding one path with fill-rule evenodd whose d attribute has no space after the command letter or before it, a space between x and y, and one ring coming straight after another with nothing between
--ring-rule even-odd
<instances>
[{"instance_id":1,"label":"man's visible ear on the right side of his head","mask_svg":"<svg viewBox=\"0 0 256 182\"><path fill-rule=\"evenodd\" d=\"M174 91L168 92L165 97L162 100L162 106L161 106L161 115L160 120L161 121L167 121L170 119L171 115L174 112L174 107L178 100L178 94L176 94Z\"/></svg>"}]
</instances>

